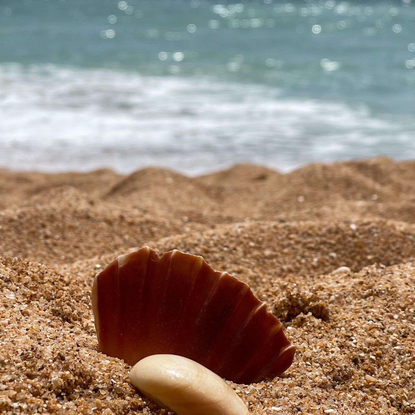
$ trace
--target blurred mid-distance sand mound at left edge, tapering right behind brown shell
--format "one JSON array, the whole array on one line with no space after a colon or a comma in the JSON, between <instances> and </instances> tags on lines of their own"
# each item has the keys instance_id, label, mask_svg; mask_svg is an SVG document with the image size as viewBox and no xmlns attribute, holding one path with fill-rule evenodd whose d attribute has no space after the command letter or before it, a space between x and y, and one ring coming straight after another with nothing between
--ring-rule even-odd
<instances>
[{"instance_id":1,"label":"blurred mid-distance sand mound at left edge, tapering right behind brown shell","mask_svg":"<svg viewBox=\"0 0 415 415\"><path fill-rule=\"evenodd\" d=\"M75 188L56 188L0 212L0 252L50 264L71 263L143 245L154 237L206 229L186 222L98 201Z\"/></svg>"}]
</instances>

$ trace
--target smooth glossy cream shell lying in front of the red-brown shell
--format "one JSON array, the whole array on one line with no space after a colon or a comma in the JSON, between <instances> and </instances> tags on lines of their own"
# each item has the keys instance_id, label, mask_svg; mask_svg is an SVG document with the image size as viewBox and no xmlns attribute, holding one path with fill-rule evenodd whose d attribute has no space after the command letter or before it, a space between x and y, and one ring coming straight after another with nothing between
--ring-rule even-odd
<instances>
[{"instance_id":1,"label":"smooth glossy cream shell lying in front of the red-brown shell","mask_svg":"<svg viewBox=\"0 0 415 415\"><path fill-rule=\"evenodd\" d=\"M178 415L249 414L242 399L222 378L186 357L145 357L131 369L129 378L144 395Z\"/></svg>"}]
</instances>

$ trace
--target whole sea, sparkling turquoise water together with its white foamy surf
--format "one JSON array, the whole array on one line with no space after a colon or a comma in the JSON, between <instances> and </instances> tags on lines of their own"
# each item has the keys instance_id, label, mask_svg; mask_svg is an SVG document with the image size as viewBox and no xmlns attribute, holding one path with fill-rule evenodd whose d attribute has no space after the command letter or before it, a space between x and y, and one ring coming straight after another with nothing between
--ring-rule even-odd
<instances>
[{"instance_id":1,"label":"whole sea, sparkling turquoise water together with its white foamy surf","mask_svg":"<svg viewBox=\"0 0 415 415\"><path fill-rule=\"evenodd\" d=\"M1 0L0 165L415 157L415 5Z\"/></svg>"}]
</instances>

